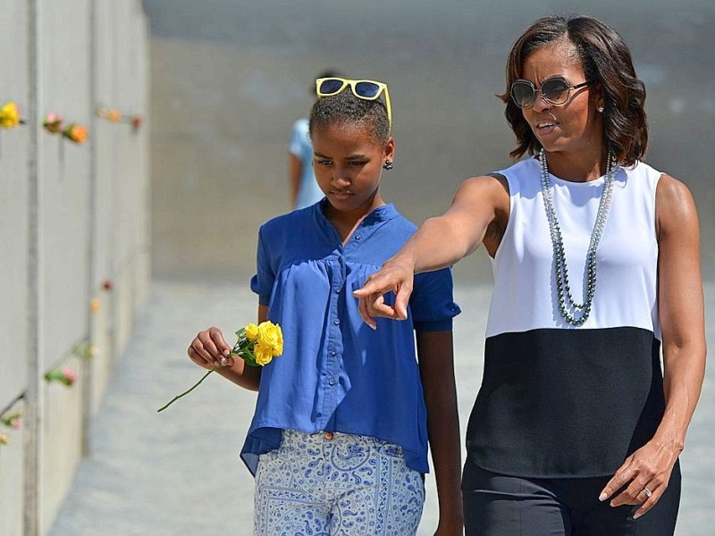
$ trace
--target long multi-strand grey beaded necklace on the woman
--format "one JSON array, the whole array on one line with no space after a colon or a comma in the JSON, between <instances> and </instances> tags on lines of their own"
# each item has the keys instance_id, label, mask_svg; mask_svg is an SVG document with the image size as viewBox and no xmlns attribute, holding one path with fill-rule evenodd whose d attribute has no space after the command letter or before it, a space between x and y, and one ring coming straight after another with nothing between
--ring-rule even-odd
<instances>
[{"instance_id":1,"label":"long multi-strand grey beaded necklace on the woman","mask_svg":"<svg viewBox=\"0 0 715 536\"><path fill-rule=\"evenodd\" d=\"M576 303L571 294L571 285L568 283L568 267L566 265L566 250L561 238L559 220L551 197L551 180L549 179L549 166L546 163L546 152L542 149L539 153L542 172L543 206L546 209L546 218L549 220L551 230L551 245L553 246L554 272L556 272L556 291L559 297L559 314L568 323L574 326L583 325L591 314L593 295L596 292L596 249L601 241L603 226L609 215L610 197L613 194L613 179L616 175L615 156L609 150L606 158L606 178L603 181L603 193L598 205L596 221L593 223L591 241L586 252L586 289L583 303ZM570 311L574 313L572 314Z\"/></svg>"}]
</instances>

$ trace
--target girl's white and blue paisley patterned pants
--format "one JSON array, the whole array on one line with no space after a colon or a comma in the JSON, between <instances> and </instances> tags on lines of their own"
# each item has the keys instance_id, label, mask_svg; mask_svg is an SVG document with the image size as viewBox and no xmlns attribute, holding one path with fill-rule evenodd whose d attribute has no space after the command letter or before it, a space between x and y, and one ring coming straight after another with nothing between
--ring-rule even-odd
<instances>
[{"instance_id":1,"label":"girl's white and blue paisley patterned pants","mask_svg":"<svg viewBox=\"0 0 715 536\"><path fill-rule=\"evenodd\" d=\"M283 431L256 473L257 536L409 536L425 502L402 449L366 436Z\"/></svg>"}]
</instances>

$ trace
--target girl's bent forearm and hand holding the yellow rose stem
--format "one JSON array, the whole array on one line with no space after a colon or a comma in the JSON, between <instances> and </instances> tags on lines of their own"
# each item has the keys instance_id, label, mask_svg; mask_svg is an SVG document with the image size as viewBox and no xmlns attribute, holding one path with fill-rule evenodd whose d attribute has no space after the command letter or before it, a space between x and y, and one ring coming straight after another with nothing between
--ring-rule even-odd
<instances>
[{"instance_id":1,"label":"girl's bent forearm and hand holding the yellow rose stem","mask_svg":"<svg viewBox=\"0 0 715 536\"><path fill-rule=\"evenodd\" d=\"M268 318L268 307L258 306L258 323L265 322ZM199 331L189 346L189 358L198 366L213 369L218 366L216 373L236 385L250 390L258 390L261 380L261 367L248 366L243 359L231 357L231 346L223 338L221 330L215 327Z\"/></svg>"}]
</instances>

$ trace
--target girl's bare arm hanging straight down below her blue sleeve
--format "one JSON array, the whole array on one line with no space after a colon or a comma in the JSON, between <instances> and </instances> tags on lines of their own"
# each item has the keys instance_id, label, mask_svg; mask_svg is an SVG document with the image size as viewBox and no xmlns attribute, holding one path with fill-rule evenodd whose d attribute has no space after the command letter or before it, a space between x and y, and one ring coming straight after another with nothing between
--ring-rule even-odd
<instances>
[{"instance_id":1,"label":"girl's bare arm hanging straight down below her blue sleeve","mask_svg":"<svg viewBox=\"0 0 715 536\"><path fill-rule=\"evenodd\" d=\"M462 462L452 332L418 332L416 341L427 406L427 432L440 506L440 523L435 534L462 534Z\"/></svg>"}]
</instances>

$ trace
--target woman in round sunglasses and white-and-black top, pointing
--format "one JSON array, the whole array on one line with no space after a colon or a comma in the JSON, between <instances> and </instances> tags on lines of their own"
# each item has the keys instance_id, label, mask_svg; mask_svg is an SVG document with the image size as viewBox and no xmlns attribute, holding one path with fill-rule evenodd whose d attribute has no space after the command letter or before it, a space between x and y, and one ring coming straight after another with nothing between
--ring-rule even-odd
<instances>
[{"instance_id":1,"label":"woman in round sunglasses and white-and-black top, pointing","mask_svg":"<svg viewBox=\"0 0 715 536\"><path fill-rule=\"evenodd\" d=\"M355 293L361 314L407 318L414 273L484 244L494 290L467 534L672 534L705 363L693 197L643 162L644 85L601 21L534 22L501 97L511 155L528 157L466 180Z\"/></svg>"}]
</instances>

